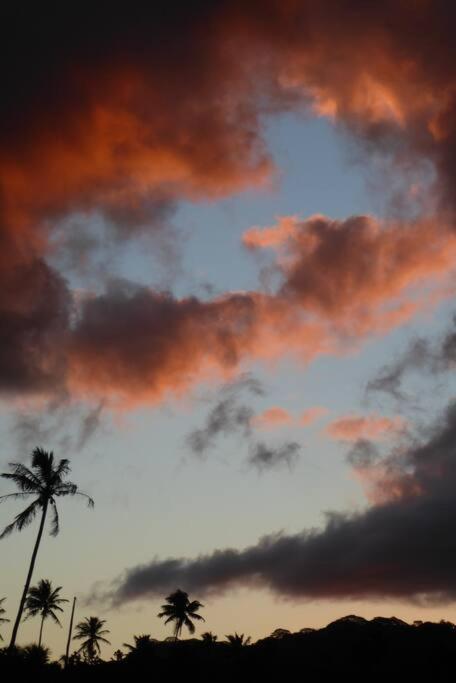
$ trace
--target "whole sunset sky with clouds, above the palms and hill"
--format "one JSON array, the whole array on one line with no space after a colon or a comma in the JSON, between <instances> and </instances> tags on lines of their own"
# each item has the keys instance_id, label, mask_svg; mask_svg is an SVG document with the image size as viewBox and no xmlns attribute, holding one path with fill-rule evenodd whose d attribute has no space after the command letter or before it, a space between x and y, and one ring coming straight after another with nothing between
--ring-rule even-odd
<instances>
[{"instance_id":1,"label":"whole sunset sky with clouds, above the palms and hill","mask_svg":"<svg viewBox=\"0 0 456 683\"><path fill-rule=\"evenodd\" d=\"M105 656L178 587L220 639L455 621L452 3L0 13L0 471L41 446L95 500L33 583Z\"/></svg>"}]
</instances>

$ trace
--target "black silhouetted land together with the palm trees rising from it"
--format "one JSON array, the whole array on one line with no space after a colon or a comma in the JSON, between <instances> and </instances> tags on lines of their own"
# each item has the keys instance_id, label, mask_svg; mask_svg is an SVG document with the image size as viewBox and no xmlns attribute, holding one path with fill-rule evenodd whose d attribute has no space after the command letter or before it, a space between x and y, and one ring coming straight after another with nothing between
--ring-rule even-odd
<instances>
[{"instance_id":1,"label":"black silhouetted land together with the palm trees rising from it","mask_svg":"<svg viewBox=\"0 0 456 683\"><path fill-rule=\"evenodd\" d=\"M8 646L0 649L1 681L325 681L347 677L350 681L450 681L456 663L456 625L451 622L414 622L394 617L367 621L357 616L339 619L325 628L303 628L297 633L276 629L269 637L251 643L249 636L234 633L219 640L211 631L200 638L180 640L184 627L190 635L195 621L204 621L198 600L176 589L165 598L157 615L173 627L173 635L163 641L149 634L133 636L109 661L102 659L102 647L110 644L106 620L84 617L72 632L73 611L68 633L68 650L51 661L49 648L42 645L46 619L61 626L58 612L68 602L47 579L30 587L34 563L48 509L52 511L51 533L59 530L56 498L83 495L76 484L65 481L70 468L67 460L54 461L52 453L35 449L31 469L10 463L3 477L13 481L17 493L0 497L29 499L28 506L7 526L0 538L21 531L40 515L40 525L29 564L26 585ZM21 621L39 617L37 644L16 645ZM0 598L0 627L7 623L5 598ZM1 639L1 634L0 634ZM73 644L73 647L71 647Z\"/></svg>"}]
</instances>

